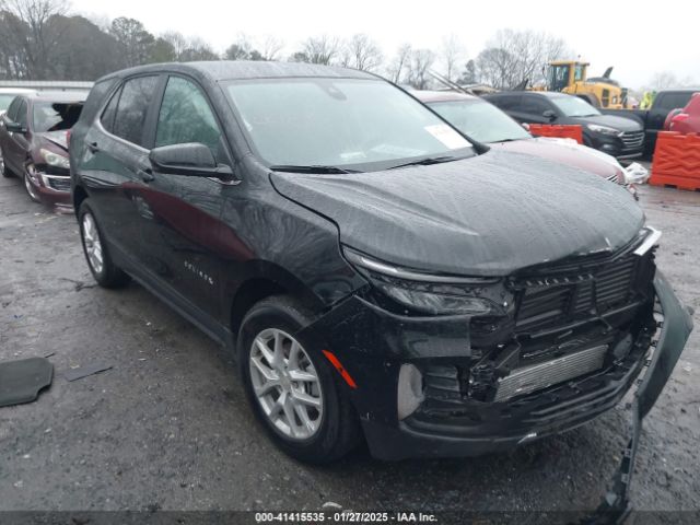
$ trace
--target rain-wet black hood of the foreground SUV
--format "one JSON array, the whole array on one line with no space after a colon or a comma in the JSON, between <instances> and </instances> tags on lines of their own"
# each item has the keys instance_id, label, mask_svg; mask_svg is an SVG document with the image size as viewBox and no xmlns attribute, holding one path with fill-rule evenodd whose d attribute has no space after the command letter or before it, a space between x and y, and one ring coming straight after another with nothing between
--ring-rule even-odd
<instances>
[{"instance_id":1,"label":"rain-wet black hood of the foreground SUV","mask_svg":"<svg viewBox=\"0 0 700 525\"><path fill-rule=\"evenodd\" d=\"M617 249L644 224L622 187L495 149L430 166L348 175L273 172L270 178L280 194L334 221L341 243L435 272L510 275Z\"/></svg>"}]
</instances>

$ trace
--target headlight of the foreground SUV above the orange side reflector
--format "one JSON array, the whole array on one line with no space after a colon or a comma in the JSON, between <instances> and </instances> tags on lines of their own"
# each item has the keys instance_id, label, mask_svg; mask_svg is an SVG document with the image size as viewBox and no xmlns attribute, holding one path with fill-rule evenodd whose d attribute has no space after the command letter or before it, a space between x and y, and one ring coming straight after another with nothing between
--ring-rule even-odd
<instances>
[{"instance_id":1,"label":"headlight of the foreground SUV above the orange side reflector","mask_svg":"<svg viewBox=\"0 0 700 525\"><path fill-rule=\"evenodd\" d=\"M498 282L493 278L435 276L398 268L343 247L346 258L372 284L397 303L427 314L501 314L479 291Z\"/></svg>"}]
</instances>

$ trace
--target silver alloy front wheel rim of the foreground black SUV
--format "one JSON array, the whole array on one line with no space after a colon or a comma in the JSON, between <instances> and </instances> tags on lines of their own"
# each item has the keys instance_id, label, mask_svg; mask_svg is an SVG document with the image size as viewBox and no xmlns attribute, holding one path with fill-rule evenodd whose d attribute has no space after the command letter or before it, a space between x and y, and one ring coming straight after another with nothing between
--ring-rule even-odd
<instances>
[{"instance_id":1,"label":"silver alloy front wheel rim of the foreground black SUV","mask_svg":"<svg viewBox=\"0 0 700 525\"><path fill-rule=\"evenodd\" d=\"M320 428L320 381L304 348L277 328L260 331L248 358L253 390L262 412L285 438L302 441Z\"/></svg>"}]
</instances>

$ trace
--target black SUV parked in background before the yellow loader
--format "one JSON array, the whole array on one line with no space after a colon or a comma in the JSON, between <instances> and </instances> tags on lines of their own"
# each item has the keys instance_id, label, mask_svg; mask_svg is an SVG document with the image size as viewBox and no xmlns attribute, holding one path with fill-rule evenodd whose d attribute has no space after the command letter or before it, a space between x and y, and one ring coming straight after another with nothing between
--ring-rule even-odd
<instances>
[{"instance_id":1,"label":"black SUV parked in background before the yellow loader","mask_svg":"<svg viewBox=\"0 0 700 525\"><path fill-rule=\"evenodd\" d=\"M583 98L563 93L514 91L485 96L518 122L579 125L583 143L619 160L644 151L644 129L633 117L603 115Z\"/></svg>"}]
</instances>

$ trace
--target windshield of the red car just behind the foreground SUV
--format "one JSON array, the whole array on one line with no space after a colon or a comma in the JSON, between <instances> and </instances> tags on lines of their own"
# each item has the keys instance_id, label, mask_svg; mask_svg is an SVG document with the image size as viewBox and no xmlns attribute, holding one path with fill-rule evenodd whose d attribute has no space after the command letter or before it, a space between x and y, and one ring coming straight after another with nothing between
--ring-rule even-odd
<instances>
[{"instance_id":1,"label":"windshield of the red car just behind the foreground SUV","mask_svg":"<svg viewBox=\"0 0 700 525\"><path fill-rule=\"evenodd\" d=\"M459 131L479 142L529 139L523 127L498 107L479 100L428 103Z\"/></svg>"}]
</instances>

